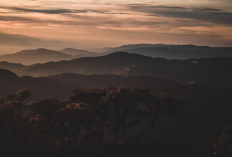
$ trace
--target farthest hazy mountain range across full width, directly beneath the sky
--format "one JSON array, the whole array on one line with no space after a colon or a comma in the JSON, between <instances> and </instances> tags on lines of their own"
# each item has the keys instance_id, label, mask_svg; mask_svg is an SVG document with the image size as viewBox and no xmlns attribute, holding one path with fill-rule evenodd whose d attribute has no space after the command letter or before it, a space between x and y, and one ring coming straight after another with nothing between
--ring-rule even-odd
<instances>
[{"instance_id":1,"label":"farthest hazy mountain range across full width, directly beneath the sky","mask_svg":"<svg viewBox=\"0 0 232 157\"><path fill-rule=\"evenodd\" d=\"M229 47L207 47L194 45L163 45L163 44L135 44L124 45L116 48L95 49L92 51L65 48L63 50L48 50L44 48L35 50L23 50L13 54L0 55L0 61L10 63L21 63L32 65L37 63L56 62L72 60L81 57L104 56L114 52L128 52L152 58L166 59L193 59L232 57L232 48Z\"/></svg>"}]
</instances>

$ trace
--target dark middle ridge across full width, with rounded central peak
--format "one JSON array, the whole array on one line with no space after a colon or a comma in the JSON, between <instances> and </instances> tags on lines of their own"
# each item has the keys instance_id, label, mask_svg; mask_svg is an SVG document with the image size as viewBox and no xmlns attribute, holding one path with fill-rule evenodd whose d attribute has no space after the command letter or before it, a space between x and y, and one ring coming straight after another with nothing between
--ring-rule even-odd
<instances>
[{"instance_id":1,"label":"dark middle ridge across full width, with rounded central peak","mask_svg":"<svg viewBox=\"0 0 232 157\"><path fill-rule=\"evenodd\" d=\"M49 76L62 73L85 75L113 74L122 76L154 76L179 83L201 83L213 86L232 86L232 58L167 60L126 52L70 61L49 62L24 66L0 62L0 68L19 76Z\"/></svg>"}]
</instances>

